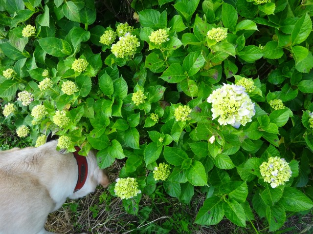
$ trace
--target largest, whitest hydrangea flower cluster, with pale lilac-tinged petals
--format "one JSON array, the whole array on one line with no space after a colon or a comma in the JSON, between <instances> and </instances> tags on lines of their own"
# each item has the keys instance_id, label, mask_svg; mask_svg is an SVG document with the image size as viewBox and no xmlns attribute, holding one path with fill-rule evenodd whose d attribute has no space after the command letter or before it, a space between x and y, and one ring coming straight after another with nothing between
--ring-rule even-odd
<instances>
[{"instance_id":1,"label":"largest, whitest hydrangea flower cluster, with pale lilac-tinged petals","mask_svg":"<svg viewBox=\"0 0 313 234\"><path fill-rule=\"evenodd\" d=\"M251 122L255 115L254 103L241 85L224 84L221 88L214 90L207 98L212 103L212 119L219 117L221 125L230 124L235 128Z\"/></svg>"}]
</instances>

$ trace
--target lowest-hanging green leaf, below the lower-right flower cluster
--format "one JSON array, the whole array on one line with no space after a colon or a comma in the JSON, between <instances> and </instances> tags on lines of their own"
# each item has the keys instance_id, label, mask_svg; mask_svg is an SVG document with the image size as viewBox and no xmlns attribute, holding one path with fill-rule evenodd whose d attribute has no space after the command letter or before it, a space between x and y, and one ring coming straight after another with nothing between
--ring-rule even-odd
<instances>
[{"instance_id":1,"label":"lowest-hanging green leaf, below the lower-right flower cluster","mask_svg":"<svg viewBox=\"0 0 313 234\"><path fill-rule=\"evenodd\" d=\"M284 207L280 203L277 203L275 206L268 206L266 217L268 219L269 231L274 232L284 225L286 212Z\"/></svg>"}]
</instances>

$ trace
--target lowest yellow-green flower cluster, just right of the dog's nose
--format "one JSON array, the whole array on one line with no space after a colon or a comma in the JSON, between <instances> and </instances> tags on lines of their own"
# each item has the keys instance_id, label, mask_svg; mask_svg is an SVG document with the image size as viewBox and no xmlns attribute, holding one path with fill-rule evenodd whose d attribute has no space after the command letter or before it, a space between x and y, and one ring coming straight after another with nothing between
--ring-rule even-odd
<instances>
[{"instance_id":1,"label":"lowest yellow-green flower cluster, just right of the dog's nose","mask_svg":"<svg viewBox=\"0 0 313 234\"><path fill-rule=\"evenodd\" d=\"M121 199L133 198L137 194L141 194L138 189L138 182L135 178L117 178L114 187L114 193Z\"/></svg>"}]
</instances>

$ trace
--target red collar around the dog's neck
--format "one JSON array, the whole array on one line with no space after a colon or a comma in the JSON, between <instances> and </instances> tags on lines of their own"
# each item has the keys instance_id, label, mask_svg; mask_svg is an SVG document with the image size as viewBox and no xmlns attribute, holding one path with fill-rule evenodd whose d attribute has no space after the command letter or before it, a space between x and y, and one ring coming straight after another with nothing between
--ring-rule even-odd
<instances>
[{"instance_id":1,"label":"red collar around the dog's neck","mask_svg":"<svg viewBox=\"0 0 313 234\"><path fill-rule=\"evenodd\" d=\"M77 178L77 184L74 189L74 193L83 188L87 175L88 175L88 163L85 156L78 155L78 151L80 151L80 148L78 146L75 146L76 151L73 152L73 155L76 159L77 166L78 166L78 178Z\"/></svg>"}]
</instances>

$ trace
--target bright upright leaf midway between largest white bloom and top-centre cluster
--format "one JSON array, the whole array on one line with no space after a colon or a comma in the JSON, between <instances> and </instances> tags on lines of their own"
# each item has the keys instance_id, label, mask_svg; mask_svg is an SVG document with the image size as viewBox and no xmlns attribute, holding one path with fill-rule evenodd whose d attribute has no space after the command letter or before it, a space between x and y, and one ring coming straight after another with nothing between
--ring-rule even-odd
<instances>
[{"instance_id":1,"label":"bright upright leaf midway between largest white bloom and top-centre cluster","mask_svg":"<svg viewBox=\"0 0 313 234\"><path fill-rule=\"evenodd\" d=\"M201 51L191 52L186 56L182 63L182 69L187 72L187 76L191 77L195 75L203 66L204 58Z\"/></svg>"}]
</instances>

